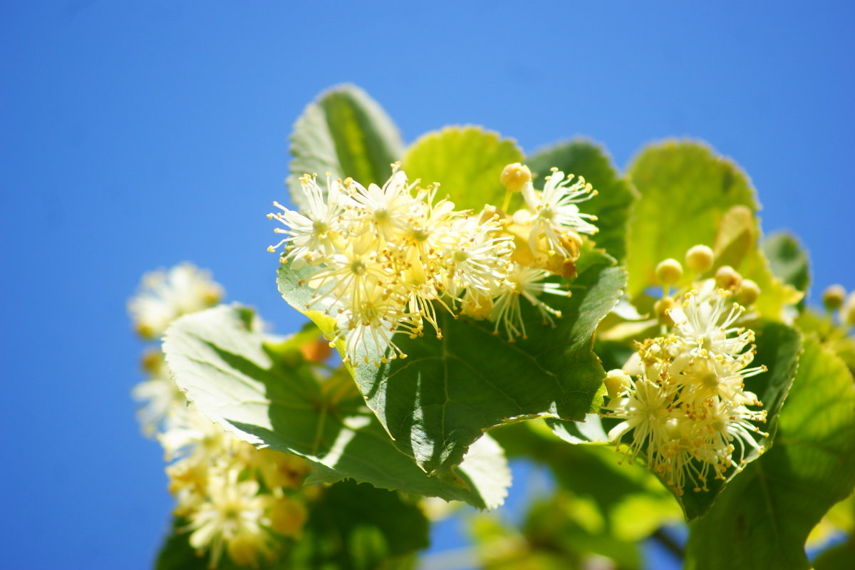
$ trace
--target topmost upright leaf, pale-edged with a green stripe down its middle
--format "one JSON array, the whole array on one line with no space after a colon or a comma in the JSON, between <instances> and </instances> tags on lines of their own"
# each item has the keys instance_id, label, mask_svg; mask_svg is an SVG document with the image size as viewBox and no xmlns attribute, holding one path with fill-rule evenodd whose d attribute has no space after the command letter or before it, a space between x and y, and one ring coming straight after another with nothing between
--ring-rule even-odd
<instances>
[{"instance_id":1,"label":"topmost upright leaf, pale-edged with a green stripe down its middle","mask_svg":"<svg viewBox=\"0 0 855 570\"><path fill-rule=\"evenodd\" d=\"M404 154L398 128L386 112L356 85L339 85L310 103L291 135L292 202L306 208L298 178L304 173L350 176L362 185L382 185L390 165Z\"/></svg>"}]
</instances>

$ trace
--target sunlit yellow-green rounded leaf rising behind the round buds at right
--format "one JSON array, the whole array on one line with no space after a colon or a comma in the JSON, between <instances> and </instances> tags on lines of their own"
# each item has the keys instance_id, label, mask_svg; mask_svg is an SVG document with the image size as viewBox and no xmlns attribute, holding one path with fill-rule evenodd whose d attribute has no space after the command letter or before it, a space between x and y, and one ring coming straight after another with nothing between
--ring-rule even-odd
<instances>
[{"instance_id":1,"label":"sunlit yellow-green rounded leaf rising behind the round buds at right","mask_svg":"<svg viewBox=\"0 0 855 570\"><path fill-rule=\"evenodd\" d=\"M724 214L735 205L756 212L749 179L705 144L666 141L643 150L629 168L640 193L629 221L628 292L657 285L657 263L682 261L695 244L712 246ZM692 276L684 277L688 285Z\"/></svg>"}]
</instances>

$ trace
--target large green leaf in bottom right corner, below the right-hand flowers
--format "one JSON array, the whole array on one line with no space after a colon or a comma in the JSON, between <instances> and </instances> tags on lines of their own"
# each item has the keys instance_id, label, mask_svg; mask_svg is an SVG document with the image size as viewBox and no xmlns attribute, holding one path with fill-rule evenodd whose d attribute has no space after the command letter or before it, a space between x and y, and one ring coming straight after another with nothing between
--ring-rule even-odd
<instances>
[{"instance_id":1,"label":"large green leaf in bottom right corner, below the right-hand flowers","mask_svg":"<svg viewBox=\"0 0 855 570\"><path fill-rule=\"evenodd\" d=\"M695 521L687 568L807 568L805 539L855 485L855 387L813 338L781 410L775 447ZM723 545L727 545L726 548Z\"/></svg>"}]
</instances>

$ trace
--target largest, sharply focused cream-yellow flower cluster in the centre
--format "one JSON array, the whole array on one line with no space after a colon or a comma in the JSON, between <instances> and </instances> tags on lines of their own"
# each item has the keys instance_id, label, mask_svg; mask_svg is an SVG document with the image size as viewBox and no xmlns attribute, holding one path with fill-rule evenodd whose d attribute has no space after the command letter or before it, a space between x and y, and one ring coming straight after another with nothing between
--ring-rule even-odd
<instances>
[{"instance_id":1,"label":"largest, sharply focused cream-yellow flower cluster in the centre","mask_svg":"<svg viewBox=\"0 0 855 570\"><path fill-rule=\"evenodd\" d=\"M438 185L410 182L398 165L382 187L327 175L300 178L308 208L302 212L275 203L280 213L268 218L285 227L282 261L307 270L300 285L314 291L306 310L321 311L337 324L333 342L343 340L345 359L357 352L406 357L392 341L396 332L421 337L426 323L441 338L436 311L490 319L512 341L525 337L520 297L539 309L545 323L560 312L538 298L568 295L543 279L570 276L579 256L579 232L596 227L575 203L593 196L583 179L554 171L544 191L535 191L522 165L509 165L527 208L511 218L486 205L481 212L459 211L447 198L437 200ZM507 177L503 174L503 181ZM510 193L510 185L508 185ZM374 364L386 357L374 360Z\"/></svg>"}]
</instances>

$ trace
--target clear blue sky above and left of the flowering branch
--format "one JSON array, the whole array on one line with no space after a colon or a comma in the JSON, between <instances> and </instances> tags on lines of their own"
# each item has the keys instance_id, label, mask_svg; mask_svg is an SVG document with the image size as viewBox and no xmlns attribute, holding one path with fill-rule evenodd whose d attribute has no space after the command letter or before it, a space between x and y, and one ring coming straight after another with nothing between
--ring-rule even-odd
<instances>
[{"instance_id":1,"label":"clear blue sky above and left of the flowering branch","mask_svg":"<svg viewBox=\"0 0 855 570\"><path fill-rule=\"evenodd\" d=\"M128 392L126 301L190 260L278 331L264 218L315 94L362 85L404 139L475 123L535 150L703 138L822 286L855 288L851 2L5 3L0 567L149 567L172 500Z\"/></svg>"}]
</instances>

